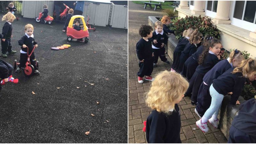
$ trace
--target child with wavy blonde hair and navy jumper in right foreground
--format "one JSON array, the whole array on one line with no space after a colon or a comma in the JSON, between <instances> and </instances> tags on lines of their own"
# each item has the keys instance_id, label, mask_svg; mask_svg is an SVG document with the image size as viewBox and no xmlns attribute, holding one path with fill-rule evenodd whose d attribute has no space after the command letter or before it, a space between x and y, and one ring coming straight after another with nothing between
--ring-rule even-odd
<instances>
[{"instance_id":1,"label":"child with wavy blonde hair and navy jumper in right foreground","mask_svg":"<svg viewBox=\"0 0 256 144\"><path fill-rule=\"evenodd\" d=\"M146 122L148 143L181 143L178 103L188 89L187 80L176 72L157 74L146 94L146 103L153 109Z\"/></svg>"}]
</instances>

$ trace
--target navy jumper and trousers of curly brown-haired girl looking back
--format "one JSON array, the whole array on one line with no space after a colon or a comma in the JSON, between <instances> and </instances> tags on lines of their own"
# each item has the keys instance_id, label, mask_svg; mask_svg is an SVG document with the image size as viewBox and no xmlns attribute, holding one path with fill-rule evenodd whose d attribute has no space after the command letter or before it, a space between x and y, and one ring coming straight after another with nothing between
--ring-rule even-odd
<instances>
[{"instance_id":1,"label":"navy jumper and trousers of curly brown-haired girl looking back","mask_svg":"<svg viewBox=\"0 0 256 144\"><path fill-rule=\"evenodd\" d=\"M220 60L217 58L215 54L208 52L208 55L205 57L204 63L197 66L196 71L192 78L189 81L189 87L187 90L187 94L191 93L191 100L197 102L197 94L200 88L201 83L203 82L204 75L212 69L214 65L216 65Z\"/></svg>"}]
</instances>

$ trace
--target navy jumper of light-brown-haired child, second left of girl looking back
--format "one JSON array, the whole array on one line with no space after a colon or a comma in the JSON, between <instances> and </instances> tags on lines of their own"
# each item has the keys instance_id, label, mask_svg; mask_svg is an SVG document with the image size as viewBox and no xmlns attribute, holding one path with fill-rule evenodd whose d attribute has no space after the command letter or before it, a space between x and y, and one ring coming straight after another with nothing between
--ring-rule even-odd
<instances>
[{"instance_id":1,"label":"navy jumper of light-brown-haired child, second left of girl looking back","mask_svg":"<svg viewBox=\"0 0 256 144\"><path fill-rule=\"evenodd\" d=\"M184 51L181 52L180 59L177 65L177 69L179 72L182 71L184 63L193 53L196 52L196 49L197 47L195 44L190 44L190 43L186 44Z\"/></svg>"}]
</instances>

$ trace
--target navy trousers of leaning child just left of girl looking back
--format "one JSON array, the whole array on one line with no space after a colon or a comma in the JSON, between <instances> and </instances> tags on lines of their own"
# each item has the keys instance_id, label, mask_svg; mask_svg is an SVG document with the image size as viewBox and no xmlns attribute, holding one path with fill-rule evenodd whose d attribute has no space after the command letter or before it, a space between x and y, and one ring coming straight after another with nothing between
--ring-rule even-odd
<instances>
[{"instance_id":1,"label":"navy trousers of leaning child just left of girl looking back","mask_svg":"<svg viewBox=\"0 0 256 144\"><path fill-rule=\"evenodd\" d=\"M191 77L194 75L197 66L198 62L192 56L190 56L183 65L181 75L186 77L187 80L189 81Z\"/></svg>"}]
</instances>

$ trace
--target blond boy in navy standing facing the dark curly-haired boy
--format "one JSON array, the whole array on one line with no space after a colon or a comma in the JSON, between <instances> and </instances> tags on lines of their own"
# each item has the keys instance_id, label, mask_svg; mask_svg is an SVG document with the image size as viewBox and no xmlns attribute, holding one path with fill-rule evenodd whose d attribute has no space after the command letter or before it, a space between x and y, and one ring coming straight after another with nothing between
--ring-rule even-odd
<instances>
[{"instance_id":1,"label":"blond boy in navy standing facing the dark curly-haired boy","mask_svg":"<svg viewBox=\"0 0 256 144\"><path fill-rule=\"evenodd\" d=\"M154 62L153 66L156 67L156 63L158 61L158 57L166 63L170 64L170 62L165 57L165 48L164 45L168 42L168 37L163 31L163 23L161 21L155 22L155 31L153 32L152 38L150 40L153 42L152 51L154 52Z\"/></svg>"}]
</instances>

